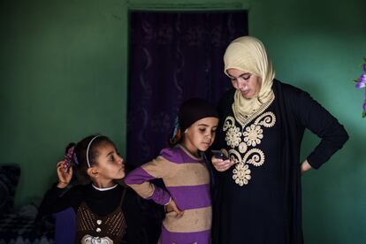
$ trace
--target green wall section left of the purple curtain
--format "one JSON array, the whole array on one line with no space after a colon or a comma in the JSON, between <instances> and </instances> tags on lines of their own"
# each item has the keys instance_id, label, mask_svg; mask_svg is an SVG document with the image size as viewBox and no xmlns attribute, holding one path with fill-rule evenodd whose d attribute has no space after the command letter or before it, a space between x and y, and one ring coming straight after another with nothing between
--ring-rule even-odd
<instances>
[{"instance_id":1,"label":"green wall section left of the purple curtain","mask_svg":"<svg viewBox=\"0 0 366 244\"><path fill-rule=\"evenodd\" d=\"M42 197L70 141L105 133L124 153L126 6L18 1L3 8L1 163L21 165L17 205Z\"/></svg>"}]
</instances>

